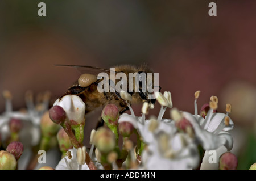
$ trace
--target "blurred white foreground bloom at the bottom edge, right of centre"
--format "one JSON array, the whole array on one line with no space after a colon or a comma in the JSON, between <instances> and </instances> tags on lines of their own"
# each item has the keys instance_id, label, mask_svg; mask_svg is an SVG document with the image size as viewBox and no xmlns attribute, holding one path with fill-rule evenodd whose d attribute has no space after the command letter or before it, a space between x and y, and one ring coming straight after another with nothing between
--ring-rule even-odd
<instances>
[{"instance_id":1,"label":"blurred white foreground bloom at the bottom edge, right of centre","mask_svg":"<svg viewBox=\"0 0 256 181\"><path fill-rule=\"evenodd\" d=\"M185 136L185 138L183 138ZM199 153L197 145L189 142L185 134L177 133L170 137L170 146L165 152L160 151L161 141L155 137L155 145L151 149L145 149L142 153L142 164L145 169L154 170L187 170L199 165ZM185 140L184 140L185 139ZM184 141L188 141L184 145Z\"/></svg>"}]
</instances>

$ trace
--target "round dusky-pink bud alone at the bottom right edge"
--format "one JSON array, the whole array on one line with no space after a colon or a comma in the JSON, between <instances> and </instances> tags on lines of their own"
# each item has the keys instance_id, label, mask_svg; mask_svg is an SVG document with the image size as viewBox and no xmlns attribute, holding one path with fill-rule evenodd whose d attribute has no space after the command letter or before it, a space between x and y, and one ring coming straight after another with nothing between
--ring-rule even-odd
<instances>
[{"instance_id":1,"label":"round dusky-pink bud alone at the bottom right edge","mask_svg":"<svg viewBox=\"0 0 256 181\"><path fill-rule=\"evenodd\" d=\"M226 152L220 156L220 170L236 170L237 157L231 152Z\"/></svg>"}]
</instances>

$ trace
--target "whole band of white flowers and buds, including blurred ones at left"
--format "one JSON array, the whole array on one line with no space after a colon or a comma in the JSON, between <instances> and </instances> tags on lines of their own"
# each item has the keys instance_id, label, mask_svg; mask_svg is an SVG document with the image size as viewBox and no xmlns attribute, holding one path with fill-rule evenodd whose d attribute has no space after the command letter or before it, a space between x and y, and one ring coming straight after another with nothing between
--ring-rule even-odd
<instances>
[{"instance_id":1,"label":"whole band of white flowers and buds, including blurred ones at left","mask_svg":"<svg viewBox=\"0 0 256 181\"><path fill-rule=\"evenodd\" d=\"M231 105L226 104L226 113L220 113L218 98L211 96L198 112L200 91L195 92L193 113L173 108L171 92L155 92L161 106L156 116L150 115L154 104L149 102L143 103L141 115L136 116L130 105L131 95L121 91L131 113L120 115L115 104L107 104L101 111L104 126L92 129L88 148L84 145L86 105L79 96L65 95L48 110L48 93L40 106L34 106L28 92L28 109L22 112L12 110L10 92L3 95L6 112L0 117L0 169L20 169L20 158L27 150L47 151L56 144L62 154L61 158L55 157L59 163L56 167L44 165L40 170L200 169L205 151L221 146L230 151L233 147L228 132L234 127L229 116ZM170 119L163 118L167 109ZM32 154L26 168L34 169L38 159L37 153ZM237 167L237 158L231 152L216 159L220 169Z\"/></svg>"}]
</instances>

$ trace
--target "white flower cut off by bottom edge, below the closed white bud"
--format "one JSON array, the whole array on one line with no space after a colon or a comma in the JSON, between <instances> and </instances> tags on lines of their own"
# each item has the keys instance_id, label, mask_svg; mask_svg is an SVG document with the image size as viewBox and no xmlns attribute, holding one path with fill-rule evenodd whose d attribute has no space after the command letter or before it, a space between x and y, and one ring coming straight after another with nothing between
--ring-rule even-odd
<instances>
[{"instance_id":1,"label":"white flower cut off by bottom edge, below the closed white bud","mask_svg":"<svg viewBox=\"0 0 256 181\"><path fill-rule=\"evenodd\" d=\"M72 158L69 159L66 155L62 158L59 164L56 166L55 170L79 170L79 163L77 163L77 149L69 149L68 151L71 152ZM81 170L89 170L89 167L86 165L81 165Z\"/></svg>"}]
</instances>

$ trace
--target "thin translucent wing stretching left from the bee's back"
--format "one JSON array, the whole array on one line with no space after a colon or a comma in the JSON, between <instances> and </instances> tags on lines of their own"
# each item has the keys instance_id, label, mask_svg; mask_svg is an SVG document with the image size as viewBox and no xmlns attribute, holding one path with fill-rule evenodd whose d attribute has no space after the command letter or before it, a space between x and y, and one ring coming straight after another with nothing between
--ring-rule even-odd
<instances>
[{"instance_id":1,"label":"thin translucent wing stretching left from the bee's back","mask_svg":"<svg viewBox=\"0 0 256 181\"><path fill-rule=\"evenodd\" d=\"M94 66L84 66L84 65L54 65L54 66L64 66L69 68L76 68L81 74L93 74L98 75L99 73L117 73L116 71L110 71L110 69L96 68Z\"/></svg>"}]
</instances>

